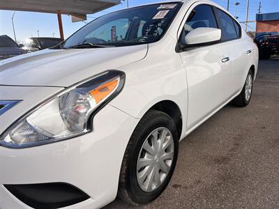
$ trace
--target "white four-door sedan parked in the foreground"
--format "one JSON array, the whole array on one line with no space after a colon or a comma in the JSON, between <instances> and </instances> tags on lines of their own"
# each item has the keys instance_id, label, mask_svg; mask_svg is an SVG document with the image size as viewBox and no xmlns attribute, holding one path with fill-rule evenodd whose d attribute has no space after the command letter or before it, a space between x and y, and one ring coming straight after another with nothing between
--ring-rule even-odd
<instances>
[{"instance_id":1,"label":"white four-door sedan parked in the foreground","mask_svg":"<svg viewBox=\"0 0 279 209\"><path fill-rule=\"evenodd\" d=\"M179 141L249 104L258 50L211 1L94 20L52 49L0 62L0 208L156 199Z\"/></svg>"}]
</instances>

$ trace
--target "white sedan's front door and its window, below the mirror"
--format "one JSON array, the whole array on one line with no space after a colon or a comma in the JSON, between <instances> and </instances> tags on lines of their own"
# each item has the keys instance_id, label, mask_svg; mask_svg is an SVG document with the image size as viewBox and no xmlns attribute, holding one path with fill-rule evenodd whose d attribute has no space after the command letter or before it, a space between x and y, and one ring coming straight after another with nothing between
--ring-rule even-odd
<instances>
[{"instance_id":1,"label":"white sedan's front door and its window, below the mirror","mask_svg":"<svg viewBox=\"0 0 279 209\"><path fill-rule=\"evenodd\" d=\"M183 25L185 35L198 27L218 28L213 7L196 4ZM232 97L229 49L225 42L180 52L188 79L188 130L202 122Z\"/></svg>"}]
</instances>

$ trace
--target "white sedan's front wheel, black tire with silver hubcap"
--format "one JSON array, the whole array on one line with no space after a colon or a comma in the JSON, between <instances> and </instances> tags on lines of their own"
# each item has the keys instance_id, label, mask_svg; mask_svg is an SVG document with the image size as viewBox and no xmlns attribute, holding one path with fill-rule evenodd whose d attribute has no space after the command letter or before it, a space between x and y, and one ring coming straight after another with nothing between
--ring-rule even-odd
<instances>
[{"instance_id":1,"label":"white sedan's front wheel, black tire with silver hubcap","mask_svg":"<svg viewBox=\"0 0 279 209\"><path fill-rule=\"evenodd\" d=\"M176 165L179 138L172 118L149 111L135 128L126 148L119 196L133 205L156 199L167 187Z\"/></svg>"}]
</instances>

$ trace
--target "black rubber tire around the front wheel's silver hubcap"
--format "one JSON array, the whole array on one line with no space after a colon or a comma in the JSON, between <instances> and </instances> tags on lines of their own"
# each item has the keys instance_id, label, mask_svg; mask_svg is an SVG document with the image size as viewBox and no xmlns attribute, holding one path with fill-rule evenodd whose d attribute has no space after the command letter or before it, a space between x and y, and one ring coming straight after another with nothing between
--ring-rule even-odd
<instances>
[{"instance_id":1,"label":"black rubber tire around the front wheel's silver hubcap","mask_svg":"<svg viewBox=\"0 0 279 209\"><path fill-rule=\"evenodd\" d=\"M153 192L144 192L137 183L137 160L145 139L158 127L167 127L172 133L174 139L174 159L163 184ZM144 205L155 200L160 194L162 194L167 187L169 180L172 178L178 152L179 137L176 125L172 118L161 111L151 110L147 112L135 128L126 148L119 178L118 196L123 199L123 201L126 201L133 206Z\"/></svg>"}]
</instances>

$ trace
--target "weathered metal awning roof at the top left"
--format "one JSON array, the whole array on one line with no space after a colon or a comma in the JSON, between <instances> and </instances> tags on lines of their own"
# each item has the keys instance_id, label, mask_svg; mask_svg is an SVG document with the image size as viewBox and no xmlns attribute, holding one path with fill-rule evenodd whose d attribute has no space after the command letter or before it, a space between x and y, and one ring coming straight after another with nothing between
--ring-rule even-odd
<instances>
[{"instance_id":1,"label":"weathered metal awning roof at the top left","mask_svg":"<svg viewBox=\"0 0 279 209\"><path fill-rule=\"evenodd\" d=\"M120 3L121 0L5 0L0 1L0 10L20 10L39 13L70 15L92 14Z\"/></svg>"}]
</instances>

